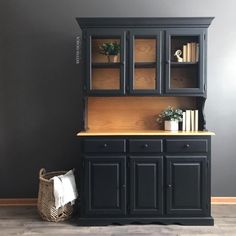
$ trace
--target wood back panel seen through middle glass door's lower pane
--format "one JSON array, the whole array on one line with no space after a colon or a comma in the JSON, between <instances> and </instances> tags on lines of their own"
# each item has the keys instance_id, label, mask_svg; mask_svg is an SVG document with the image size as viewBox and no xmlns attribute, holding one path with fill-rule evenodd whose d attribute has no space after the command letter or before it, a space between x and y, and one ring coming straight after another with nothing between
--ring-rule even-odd
<instances>
[{"instance_id":1,"label":"wood back panel seen through middle glass door's lower pane","mask_svg":"<svg viewBox=\"0 0 236 236\"><path fill-rule=\"evenodd\" d=\"M135 68L134 89L155 89L156 69L155 68Z\"/></svg>"}]
</instances>

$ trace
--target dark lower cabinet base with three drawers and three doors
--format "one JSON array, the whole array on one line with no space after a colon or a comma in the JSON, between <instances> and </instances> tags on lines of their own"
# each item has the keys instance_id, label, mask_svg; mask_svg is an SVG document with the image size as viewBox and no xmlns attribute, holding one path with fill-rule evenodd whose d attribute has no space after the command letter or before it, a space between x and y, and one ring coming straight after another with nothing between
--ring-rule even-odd
<instances>
[{"instance_id":1,"label":"dark lower cabinet base with three drawers and three doors","mask_svg":"<svg viewBox=\"0 0 236 236\"><path fill-rule=\"evenodd\" d=\"M80 175L81 225L213 224L210 137L189 142L187 137L97 140L86 138Z\"/></svg>"}]
</instances>

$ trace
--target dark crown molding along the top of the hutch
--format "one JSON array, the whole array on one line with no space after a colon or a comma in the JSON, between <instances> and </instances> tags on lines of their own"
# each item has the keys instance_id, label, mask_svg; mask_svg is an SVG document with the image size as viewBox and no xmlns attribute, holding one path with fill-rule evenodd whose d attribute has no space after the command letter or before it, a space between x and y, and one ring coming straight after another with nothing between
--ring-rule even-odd
<instances>
[{"instance_id":1,"label":"dark crown molding along the top of the hutch","mask_svg":"<svg viewBox=\"0 0 236 236\"><path fill-rule=\"evenodd\" d=\"M82 29L106 27L208 28L214 17L77 17Z\"/></svg>"}]
</instances>

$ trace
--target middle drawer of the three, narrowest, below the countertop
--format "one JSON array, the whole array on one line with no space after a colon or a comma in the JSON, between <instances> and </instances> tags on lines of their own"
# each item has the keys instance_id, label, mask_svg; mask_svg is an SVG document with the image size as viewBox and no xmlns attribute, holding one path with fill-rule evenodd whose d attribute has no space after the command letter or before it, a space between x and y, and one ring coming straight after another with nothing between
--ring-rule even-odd
<instances>
[{"instance_id":1,"label":"middle drawer of the three, narrowest, below the countertop","mask_svg":"<svg viewBox=\"0 0 236 236\"><path fill-rule=\"evenodd\" d=\"M162 152L162 139L130 139L130 152Z\"/></svg>"}]
</instances>

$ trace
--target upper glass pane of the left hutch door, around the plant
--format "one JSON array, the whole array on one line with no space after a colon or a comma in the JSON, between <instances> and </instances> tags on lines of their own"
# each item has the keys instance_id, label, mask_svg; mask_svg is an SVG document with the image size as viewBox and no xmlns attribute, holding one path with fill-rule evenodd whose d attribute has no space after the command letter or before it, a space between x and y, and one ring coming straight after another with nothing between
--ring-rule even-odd
<instances>
[{"instance_id":1,"label":"upper glass pane of the left hutch door, around the plant","mask_svg":"<svg viewBox=\"0 0 236 236\"><path fill-rule=\"evenodd\" d=\"M109 45L107 46L107 50L112 53L116 54L117 53L117 46L120 45L120 39L119 38L111 38L111 39L98 39L98 38L93 38L92 39L92 63L106 63L108 61L108 56L104 55L103 53L108 53L108 51L103 51L101 50L101 46L104 44L113 44L115 48L112 50ZM119 50L118 50L119 51ZM113 60L111 59L111 62L120 62L120 53L118 53L117 58Z\"/></svg>"}]
</instances>

